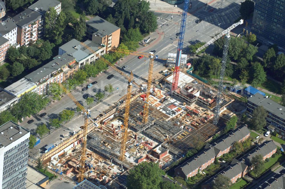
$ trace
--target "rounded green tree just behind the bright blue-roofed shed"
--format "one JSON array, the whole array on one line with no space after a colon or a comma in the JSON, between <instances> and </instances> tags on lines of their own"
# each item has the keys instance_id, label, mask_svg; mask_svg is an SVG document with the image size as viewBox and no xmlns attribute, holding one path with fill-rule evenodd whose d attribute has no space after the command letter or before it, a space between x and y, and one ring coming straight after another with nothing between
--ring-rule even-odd
<instances>
[{"instance_id":1,"label":"rounded green tree just behind the bright blue-roofed shed","mask_svg":"<svg viewBox=\"0 0 285 189\"><path fill-rule=\"evenodd\" d=\"M259 62L252 63L252 73L253 73L252 85L254 87L266 81L266 73Z\"/></svg>"}]
</instances>

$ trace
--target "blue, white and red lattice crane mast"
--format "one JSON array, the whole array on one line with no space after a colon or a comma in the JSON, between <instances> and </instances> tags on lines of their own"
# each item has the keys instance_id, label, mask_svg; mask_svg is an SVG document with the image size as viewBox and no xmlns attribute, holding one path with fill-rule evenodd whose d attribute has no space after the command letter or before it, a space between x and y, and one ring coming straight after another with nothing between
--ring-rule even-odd
<instances>
[{"instance_id":1,"label":"blue, white and red lattice crane mast","mask_svg":"<svg viewBox=\"0 0 285 189\"><path fill-rule=\"evenodd\" d=\"M189 0L185 0L182 18L181 18L181 26L180 26L180 33L179 33L180 35L179 35L178 46L177 46L177 54L176 54L175 68L173 72L171 92L175 91L178 87L180 61L181 61L182 46L183 46L183 40L184 40L184 32L186 28L186 17L187 17L188 6L189 6Z\"/></svg>"}]
</instances>

